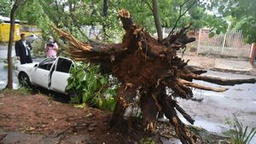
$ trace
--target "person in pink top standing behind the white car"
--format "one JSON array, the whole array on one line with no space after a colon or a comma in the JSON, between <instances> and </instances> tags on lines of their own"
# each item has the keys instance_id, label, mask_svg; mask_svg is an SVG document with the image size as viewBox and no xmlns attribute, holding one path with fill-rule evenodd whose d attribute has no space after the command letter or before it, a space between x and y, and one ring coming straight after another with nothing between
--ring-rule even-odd
<instances>
[{"instance_id":1,"label":"person in pink top standing behind the white car","mask_svg":"<svg viewBox=\"0 0 256 144\"><path fill-rule=\"evenodd\" d=\"M47 57L56 57L57 50L58 50L58 44L55 43L53 37L48 37L49 40L44 45L44 50L46 52Z\"/></svg>"}]
</instances>

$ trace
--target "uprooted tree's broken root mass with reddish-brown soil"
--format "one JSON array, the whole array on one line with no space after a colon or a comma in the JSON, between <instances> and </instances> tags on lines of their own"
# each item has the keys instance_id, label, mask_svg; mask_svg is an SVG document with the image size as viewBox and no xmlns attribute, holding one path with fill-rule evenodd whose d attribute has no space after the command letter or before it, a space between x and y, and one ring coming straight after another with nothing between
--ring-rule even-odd
<instances>
[{"instance_id":1,"label":"uprooted tree's broken root mass with reddish-brown soil","mask_svg":"<svg viewBox=\"0 0 256 144\"><path fill-rule=\"evenodd\" d=\"M195 84L192 80L219 85L256 82L254 78L222 79L201 76L206 71L187 66L188 61L177 57L177 50L183 49L186 43L195 41L194 37L186 35L190 25L157 41L133 22L128 11L121 9L118 14L125 29L122 43L82 43L68 32L53 26L61 37L70 42L69 53L75 60L98 63L119 79L121 86L110 121L111 126L127 125L127 118L124 118L125 108L138 106L143 112L145 130L153 132L159 112L164 112L180 141L185 144L195 143L197 136L189 132L186 125L177 117L177 111L182 113L190 124L194 124L195 120L179 107L175 98L191 99L191 88L216 92L227 89Z\"/></svg>"}]
</instances>

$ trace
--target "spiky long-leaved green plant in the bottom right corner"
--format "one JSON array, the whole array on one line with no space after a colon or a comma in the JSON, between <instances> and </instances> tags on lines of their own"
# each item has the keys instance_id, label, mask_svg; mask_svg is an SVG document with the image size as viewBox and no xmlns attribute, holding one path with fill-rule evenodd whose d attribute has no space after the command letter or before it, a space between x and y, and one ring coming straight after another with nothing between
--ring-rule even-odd
<instances>
[{"instance_id":1,"label":"spiky long-leaved green plant in the bottom right corner","mask_svg":"<svg viewBox=\"0 0 256 144\"><path fill-rule=\"evenodd\" d=\"M226 123L230 125L231 130L224 132L224 134L231 136L231 142L233 144L250 143L250 141L253 139L253 136L256 135L256 129L253 128L252 130L249 130L248 126L244 128L235 115L233 116L233 120L234 122L229 120Z\"/></svg>"}]
</instances>

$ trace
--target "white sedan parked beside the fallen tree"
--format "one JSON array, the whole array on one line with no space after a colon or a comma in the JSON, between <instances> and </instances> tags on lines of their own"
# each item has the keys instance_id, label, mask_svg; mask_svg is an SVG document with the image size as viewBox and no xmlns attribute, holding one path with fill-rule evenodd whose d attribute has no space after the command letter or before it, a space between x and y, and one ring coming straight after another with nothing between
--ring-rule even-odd
<instances>
[{"instance_id":1,"label":"white sedan parked beside the fallen tree","mask_svg":"<svg viewBox=\"0 0 256 144\"><path fill-rule=\"evenodd\" d=\"M17 66L15 72L22 85L39 86L67 94L67 78L71 76L73 66L73 60L64 57L46 58L39 63Z\"/></svg>"}]
</instances>

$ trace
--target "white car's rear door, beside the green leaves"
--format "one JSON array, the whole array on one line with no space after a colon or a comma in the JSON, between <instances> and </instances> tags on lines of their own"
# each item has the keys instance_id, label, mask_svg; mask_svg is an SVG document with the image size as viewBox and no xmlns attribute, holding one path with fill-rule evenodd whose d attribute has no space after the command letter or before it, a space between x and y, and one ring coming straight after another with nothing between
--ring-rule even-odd
<instances>
[{"instance_id":1,"label":"white car's rear door, beside the green leaves","mask_svg":"<svg viewBox=\"0 0 256 144\"><path fill-rule=\"evenodd\" d=\"M71 75L70 69L73 66L73 61L59 57L55 66L55 71L52 73L50 79L50 89L66 94L67 78Z\"/></svg>"}]
</instances>

